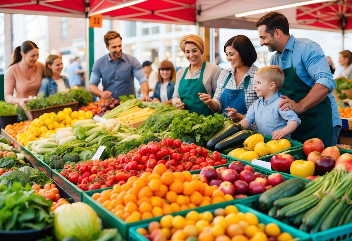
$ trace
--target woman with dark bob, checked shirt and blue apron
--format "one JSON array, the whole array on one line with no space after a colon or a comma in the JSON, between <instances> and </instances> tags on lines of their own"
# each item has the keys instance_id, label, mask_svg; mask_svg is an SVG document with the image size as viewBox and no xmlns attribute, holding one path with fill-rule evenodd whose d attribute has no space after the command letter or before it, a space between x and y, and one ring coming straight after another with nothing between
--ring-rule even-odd
<instances>
[{"instance_id":1,"label":"woman with dark bob, checked shirt and blue apron","mask_svg":"<svg viewBox=\"0 0 352 241\"><path fill-rule=\"evenodd\" d=\"M257 52L245 35L229 39L224 52L231 63L231 69L221 71L213 98L207 93L199 93L199 97L210 110L225 112L227 117L240 121L254 100L258 99L254 91L254 74L258 67L253 64Z\"/></svg>"}]
</instances>

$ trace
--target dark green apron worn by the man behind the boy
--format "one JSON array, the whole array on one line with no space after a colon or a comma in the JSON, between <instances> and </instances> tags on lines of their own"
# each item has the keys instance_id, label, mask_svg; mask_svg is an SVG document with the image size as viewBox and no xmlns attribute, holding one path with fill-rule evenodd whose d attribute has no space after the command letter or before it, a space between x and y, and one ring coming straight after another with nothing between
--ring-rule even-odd
<instances>
[{"instance_id":1,"label":"dark green apron worn by the man behind the boy","mask_svg":"<svg viewBox=\"0 0 352 241\"><path fill-rule=\"evenodd\" d=\"M294 100L296 103L307 96L312 90L300 77L296 74L293 67L291 56L291 67L283 70L285 81L281 87L282 95ZM294 88L293 88L294 86ZM324 146L331 146L332 143L332 108L329 97L312 108L299 114L301 124L291 133L291 139L304 142L310 138L319 138L323 141Z\"/></svg>"}]
</instances>

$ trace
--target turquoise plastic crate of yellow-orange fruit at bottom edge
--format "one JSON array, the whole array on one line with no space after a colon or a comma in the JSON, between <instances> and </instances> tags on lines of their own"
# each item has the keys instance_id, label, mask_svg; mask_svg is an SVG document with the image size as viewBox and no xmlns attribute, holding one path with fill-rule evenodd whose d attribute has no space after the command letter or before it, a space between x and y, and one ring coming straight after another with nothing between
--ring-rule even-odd
<instances>
[{"instance_id":1,"label":"turquoise plastic crate of yellow-orange fruit at bottom edge","mask_svg":"<svg viewBox=\"0 0 352 241\"><path fill-rule=\"evenodd\" d=\"M231 203L231 204L234 204L234 203ZM216 208L225 208L227 205L229 205L229 204L220 203L215 208L209 209L206 207L201 207L201 208L196 209L196 211L198 211L198 212L210 211L213 213ZM293 237L297 238L297 239L295 239L297 241L309 241L310 240L310 235L302 232L301 230L293 228L285 223L282 223L276 219L273 219L272 217L269 217L265 214L259 213L258 211L254 210L252 208L246 207L242 204L235 204L235 206L238 208L238 211L240 211L240 212L243 212L243 213L249 212L249 213L255 214L258 217L259 223L264 223L264 224L276 223L280 227L281 232L290 233ZM187 213L188 213L188 210L182 211L178 214L172 214L172 215L173 216L182 215L185 217L187 215ZM153 220L153 221L160 221L160 218ZM130 230L129 230L130 237L128 240L129 241L147 241L147 239L145 237L143 237L142 235L140 235L139 233L136 232L136 230L138 228L147 228L147 227L148 227L147 224L141 224L138 226L130 227Z\"/></svg>"}]
</instances>

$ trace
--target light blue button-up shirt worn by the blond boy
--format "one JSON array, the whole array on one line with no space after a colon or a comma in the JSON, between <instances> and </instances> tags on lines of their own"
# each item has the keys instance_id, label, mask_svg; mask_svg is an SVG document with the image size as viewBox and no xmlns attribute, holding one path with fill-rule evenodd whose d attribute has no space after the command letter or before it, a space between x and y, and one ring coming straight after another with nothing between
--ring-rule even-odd
<instances>
[{"instance_id":1,"label":"light blue button-up shirt worn by the blond boy","mask_svg":"<svg viewBox=\"0 0 352 241\"><path fill-rule=\"evenodd\" d=\"M301 119L293 110L280 111L278 105L281 100L277 91L268 100L260 97L248 109L244 120L248 121L250 126L256 122L258 133L263 136L271 136L273 131L281 130L290 121L297 121L298 125L301 124ZM283 138L290 139L290 137L291 134Z\"/></svg>"}]
</instances>

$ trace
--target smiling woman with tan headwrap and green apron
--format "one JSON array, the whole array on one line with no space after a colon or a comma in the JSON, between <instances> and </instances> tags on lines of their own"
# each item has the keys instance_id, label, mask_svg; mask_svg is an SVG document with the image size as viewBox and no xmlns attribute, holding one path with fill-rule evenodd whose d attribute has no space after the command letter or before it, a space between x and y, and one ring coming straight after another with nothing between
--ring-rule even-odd
<instances>
[{"instance_id":1,"label":"smiling woman with tan headwrap and green apron","mask_svg":"<svg viewBox=\"0 0 352 241\"><path fill-rule=\"evenodd\" d=\"M190 65L177 71L172 104L179 109L196 112L198 115L213 115L214 112L200 100L198 93L214 96L221 69L203 59L204 42L199 36L194 34L183 36L180 47Z\"/></svg>"}]
</instances>

